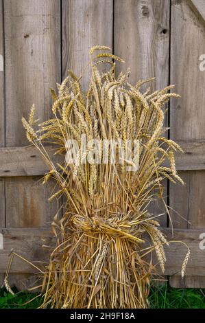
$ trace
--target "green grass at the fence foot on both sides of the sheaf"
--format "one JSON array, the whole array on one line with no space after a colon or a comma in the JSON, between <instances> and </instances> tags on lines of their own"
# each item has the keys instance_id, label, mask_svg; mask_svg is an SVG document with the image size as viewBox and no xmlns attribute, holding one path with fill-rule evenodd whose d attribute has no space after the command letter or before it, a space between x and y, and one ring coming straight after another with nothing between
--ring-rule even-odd
<instances>
[{"instance_id":1,"label":"green grass at the fence foot on both sides of the sheaf","mask_svg":"<svg viewBox=\"0 0 205 323\"><path fill-rule=\"evenodd\" d=\"M12 296L5 289L1 289L0 308L36 309L43 301L42 298L32 300L37 295L15 291L15 295ZM152 287L149 303L153 309L205 309L205 289L175 289L168 284Z\"/></svg>"}]
</instances>

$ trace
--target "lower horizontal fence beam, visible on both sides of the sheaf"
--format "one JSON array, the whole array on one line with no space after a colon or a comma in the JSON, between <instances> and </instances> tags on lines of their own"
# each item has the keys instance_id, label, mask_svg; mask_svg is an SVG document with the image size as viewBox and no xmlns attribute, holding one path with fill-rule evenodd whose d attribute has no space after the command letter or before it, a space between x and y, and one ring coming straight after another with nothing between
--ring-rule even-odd
<instances>
[{"instance_id":1,"label":"lower horizontal fence beam, visible on both sides of the sheaf","mask_svg":"<svg viewBox=\"0 0 205 323\"><path fill-rule=\"evenodd\" d=\"M173 236L169 229L163 229L169 241L182 241L182 243L170 243L165 246L167 263L165 265L166 275L180 274L184 257L186 256L186 245L191 249L191 257L186 266L185 274L187 276L205 276L205 250L200 249L200 234L204 229L198 230L174 230ZM43 245L52 245L53 234L45 228L16 228L0 229L3 234L3 250L0 250L0 272L4 273L8 264L9 255L12 249L17 254L30 260L37 266L42 265L39 262L45 262L48 259L50 249L42 247ZM154 257L155 258L155 257ZM36 269L25 261L14 257L11 273L32 273Z\"/></svg>"}]
</instances>

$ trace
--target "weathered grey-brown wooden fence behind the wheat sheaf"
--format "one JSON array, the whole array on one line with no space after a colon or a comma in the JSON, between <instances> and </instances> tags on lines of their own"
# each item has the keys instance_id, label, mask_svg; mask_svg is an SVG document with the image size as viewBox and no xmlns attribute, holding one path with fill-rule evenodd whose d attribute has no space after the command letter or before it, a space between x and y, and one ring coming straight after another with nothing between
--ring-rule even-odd
<instances>
[{"instance_id":1,"label":"weathered grey-brown wooden fence behind the wheat sheaf","mask_svg":"<svg viewBox=\"0 0 205 323\"><path fill-rule=\"evenodd\" d=\"M41 245L49 244L49 223L58 211L49 203L52 186L41 186L45 166L27 146L21 117L32 103L38 116L51 115L49 88L76 74L88 60L92 45L104 44L131 67L130 82L156 76L152 89L175 84L180 100L169 104L169 137L184 148L177 168L186 186L166 183L174 238L191 248L184 280L180 265L184 245L167 249L166 274L174 287L205 287L205 54L204 0L0 0L0 250L1 278L8 254L43 259ZM84 87L87 84L84 79ZM162 212L162 205L153 205ZM180 214L180 215L179 215ZM169 231L170 221L162 226ZM33 271L14 260L10 281L19 282Z\"/></svg>"}]
</instances>

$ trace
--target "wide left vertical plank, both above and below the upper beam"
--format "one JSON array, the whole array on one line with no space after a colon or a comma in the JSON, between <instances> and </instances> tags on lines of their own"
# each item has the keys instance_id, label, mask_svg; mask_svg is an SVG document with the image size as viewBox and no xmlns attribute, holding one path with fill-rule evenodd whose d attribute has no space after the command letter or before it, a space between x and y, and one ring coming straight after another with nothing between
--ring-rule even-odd
<instances>
[{"instance_id":1,"label":"wide left vertical plank, both above and below the upper beam","mask_svg":"<svg viewBox=\"0 0 205 323\"><path fill-rule=\"evenodd\" d=\"M47 120L49 87L60 81L60 0L8 0L4 8L5 144L23 146L28 143L21 117L27 118L35 103L38 118ZM47 201L52 188L40 188L38 180L6 179L7 227L47 225L56 214L57 203Z\"/></svg>"}]
</instances>

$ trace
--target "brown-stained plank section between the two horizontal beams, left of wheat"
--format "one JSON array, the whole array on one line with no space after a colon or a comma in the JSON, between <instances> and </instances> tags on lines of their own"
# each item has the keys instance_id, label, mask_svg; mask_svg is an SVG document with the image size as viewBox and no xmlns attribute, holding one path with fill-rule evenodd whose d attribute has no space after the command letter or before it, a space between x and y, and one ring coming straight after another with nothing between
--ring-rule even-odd
<instances>
[{"instance_id":1,"label":"brown-stained plank section between the two horizontal beams, left of wheat","mask_svg":"<svg viewBox=\"0 0 205 323\"><path fill-rule=\"evenodd\" d=\"M60 208L60 200L59 203L56 199L48 201L54 192L56 183L53 181L43 186L42 180L36 177L17 177L15 180L8 177L6 227L49 227Z\"/></svg>"}]
</instances>

